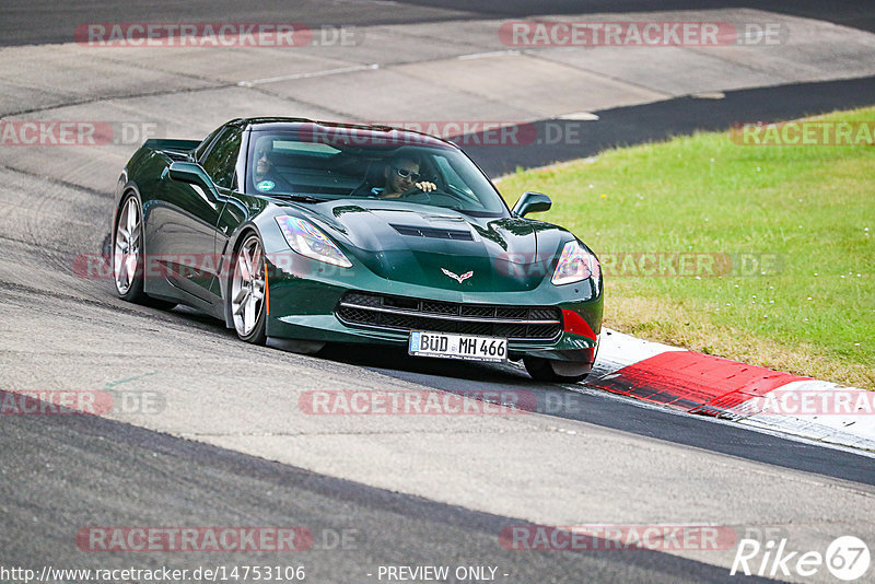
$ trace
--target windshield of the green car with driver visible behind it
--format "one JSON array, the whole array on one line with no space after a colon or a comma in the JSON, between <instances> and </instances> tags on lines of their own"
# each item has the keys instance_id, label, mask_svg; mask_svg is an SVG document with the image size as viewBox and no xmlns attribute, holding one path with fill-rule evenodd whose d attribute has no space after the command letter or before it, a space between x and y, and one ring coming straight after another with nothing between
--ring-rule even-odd
<instances>
[{"instance_id":1,"label":"windshield of the green car with driver visible behind it","mask_svg":"<svg viewBox=\"0 0 875 584\"><path fill-rule=\"evenodd\" d=\"M509 215L467 156L425 136L318 125L256 130L247 159L248 194L308 201L378 199L475 217Z\"/></svg>"}]
</instances>

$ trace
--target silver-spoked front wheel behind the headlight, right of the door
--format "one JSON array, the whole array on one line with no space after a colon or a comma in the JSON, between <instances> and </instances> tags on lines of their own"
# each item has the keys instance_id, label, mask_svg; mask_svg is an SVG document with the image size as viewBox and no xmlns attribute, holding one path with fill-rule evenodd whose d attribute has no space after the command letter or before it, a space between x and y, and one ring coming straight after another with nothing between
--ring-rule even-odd
<instances>
[{"instance_id":1,"label":"silver-spoked front wheel behind the headlight, right of the door","mask_svg":"<svg viewBox=\"0 0 875 584\"><path fill-rule=\"evenodd\" d=\"M267 309L265 303L265 253L261 240L250 234L240 246L231 276L231 316L237 337L264 344Z\"/></svg>"}]
</instances>

